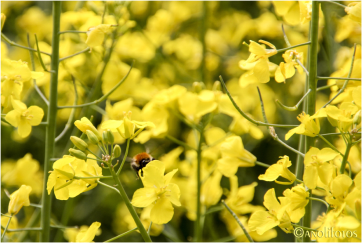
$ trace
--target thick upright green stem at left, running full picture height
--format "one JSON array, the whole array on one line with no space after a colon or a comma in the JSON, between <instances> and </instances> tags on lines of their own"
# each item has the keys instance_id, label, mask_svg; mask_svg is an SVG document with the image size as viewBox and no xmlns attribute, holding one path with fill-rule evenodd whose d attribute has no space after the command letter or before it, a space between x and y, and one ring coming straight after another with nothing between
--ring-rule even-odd
<instances>
[{"instance_id":1,"label":"thick upright green stem at left, running full picture height","mask_svg":"<svg viewBox=\"0 0 362 243\"><path fill-rule=\"evenodd\" d=\"M44 158L44 179L42 190L42 208L40 227L40 242L49 242L50 233L50 209L51 209L51 196L47 193L46 182L49 177L48 171L51 168L50 158L54 155L55 145L55 126L56 126L56 112L57 112L57 84L58 84L58 66L59 66L59 35L57 34L60 29L60 12L61 1L53 1L53 28L51 39L51 62L50 70L50 90L49 90L49 105L47 111L47 122L45 130L45 158Z\"/></svg>"}]
</instances>

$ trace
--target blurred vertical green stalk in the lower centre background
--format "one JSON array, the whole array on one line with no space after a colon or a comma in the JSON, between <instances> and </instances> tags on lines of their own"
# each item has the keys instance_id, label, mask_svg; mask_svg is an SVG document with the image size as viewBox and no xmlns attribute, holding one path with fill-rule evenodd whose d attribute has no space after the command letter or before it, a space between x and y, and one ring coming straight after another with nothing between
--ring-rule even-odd
<instances>
[{"instance_id":1,"label":"blurred vertical green stalk in the lower centre background","mask_svg":"<svg viewBox=\"0 0 362 243\"><path fill-rule=\"evenodd\" d=\"M202 230L201 230L201 144L202 144L202 137L203 137L203 130L204 127L202 126L200 130L200 138L198 140L197 146L197 197L196 197L196 221L195 221L195 228L194 228L194 238L196 242L202 241Z\"/></svg>"}]
</instances>

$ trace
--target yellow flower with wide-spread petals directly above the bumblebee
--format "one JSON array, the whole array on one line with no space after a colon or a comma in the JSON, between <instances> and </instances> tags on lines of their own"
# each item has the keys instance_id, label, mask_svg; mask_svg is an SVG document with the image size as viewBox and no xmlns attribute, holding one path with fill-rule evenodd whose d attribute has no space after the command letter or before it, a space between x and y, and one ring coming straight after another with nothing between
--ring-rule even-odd
<instances>
[{"instance_id":1,"label":"yellow flower with wide-spread petals directly above the bumblebee","mask_svg":"<svg viewBox=\"0 0 362 243\"><path fill-rule=\"evenodd\" d=\"M137 136L139 132L141 132L145 127L155 127L153 122L150 121L131 120L131 114L131 111L128 111L128 114L123 111L123 120L106 120L102 123L101 128L118 131L123 138L132 139ZM134 132L135 128L138 128L136 132Z\"/></svg>"}]
</instances>

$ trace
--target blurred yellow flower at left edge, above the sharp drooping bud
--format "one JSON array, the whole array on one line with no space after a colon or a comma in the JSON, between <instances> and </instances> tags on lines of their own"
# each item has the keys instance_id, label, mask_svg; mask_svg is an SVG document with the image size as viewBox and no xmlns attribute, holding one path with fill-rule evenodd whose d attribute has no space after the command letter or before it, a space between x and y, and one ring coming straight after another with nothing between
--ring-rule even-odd
<instances>
[{"instance_id":1,"label":"blurred yellow flower at left edge, above the sharp drooping bud","mask_svg":"<svg viewBox=\"0 0 362 243\"><path fill-rule=\"evenodd\" d=\"M39 195L42 191L42 177L39 162L32 158L31 153L26 153L16 163L6 160L1 162L1 182L8 186L29 185L31 193Z\"/></svg>"}]
</instances>

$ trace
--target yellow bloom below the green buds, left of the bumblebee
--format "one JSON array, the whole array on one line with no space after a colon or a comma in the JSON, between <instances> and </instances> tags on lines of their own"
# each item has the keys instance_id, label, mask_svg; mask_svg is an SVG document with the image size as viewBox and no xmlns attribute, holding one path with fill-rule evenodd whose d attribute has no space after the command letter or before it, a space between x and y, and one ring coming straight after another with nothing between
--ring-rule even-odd
<instances>
[{"instance_id":1,"label":"yellow bloom below the green buds, left of the bumblebee","mask_svg":"<svg viewBox=\"0 0 362 243\"><path fill-rule=\"evenodd\" d=\"M88 154L88 157L95 158L94 155ZM69 197L75 197L80 193L94 188L97 179L74 179L74 176L89 177L100 176L101 168L93 159L77 159L73 156L64 155L62 158L53 163L46 189L50 194L54 187L55 197L59 200L67 200Z\"/></svg>"}]
</instances>

